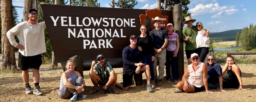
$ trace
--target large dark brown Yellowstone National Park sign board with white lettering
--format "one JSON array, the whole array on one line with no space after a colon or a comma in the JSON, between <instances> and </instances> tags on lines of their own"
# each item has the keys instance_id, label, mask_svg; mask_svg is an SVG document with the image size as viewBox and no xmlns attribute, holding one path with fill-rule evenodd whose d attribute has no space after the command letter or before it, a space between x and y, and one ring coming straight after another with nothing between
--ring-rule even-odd
<instances>
[{"instance_id":1,"label":"large dark brown Yellowstone National Park sign board with white lettering","mask_svg":"<svg viewBox=\"0 0 256 102\"><path fill-rule=\"evenodd\" d=\"M83 60L96 60L98 54L108 59L122 58L130 35L140 35L141 24L154 29L150 22L156 16L164 20L162 26L173 23L172 11L51 4L41 7L56 62L74 55Z\"/></svg>"}]
</instances>

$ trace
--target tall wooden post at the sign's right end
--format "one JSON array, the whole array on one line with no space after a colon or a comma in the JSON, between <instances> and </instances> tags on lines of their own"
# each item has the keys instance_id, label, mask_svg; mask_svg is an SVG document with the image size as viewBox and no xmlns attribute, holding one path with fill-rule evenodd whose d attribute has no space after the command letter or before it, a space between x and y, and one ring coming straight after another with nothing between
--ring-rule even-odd
<instances>
[{"instance_id":1,"label":"tall wooden post at the sign's right end","mask_svg":"<svg viewBox=\"0 0 256 102\"><path fill-rule=\"evenodd\" d=\"M184 55L183 55L183 41L182 41L182 29L183 29L183 16L182 16L182 6L180 4L176 4L173 7L173 21L174 21L174 30L175 33L179 35L180 41L180 49L178 53L178 78L182 79L184 74Z\"/></svg>"}]
</instances>

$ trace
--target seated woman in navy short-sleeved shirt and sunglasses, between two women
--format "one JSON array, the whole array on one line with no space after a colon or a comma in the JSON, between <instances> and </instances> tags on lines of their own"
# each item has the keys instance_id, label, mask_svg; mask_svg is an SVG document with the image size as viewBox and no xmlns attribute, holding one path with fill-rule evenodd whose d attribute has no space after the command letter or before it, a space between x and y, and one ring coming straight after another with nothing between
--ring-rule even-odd
<instances>
[{"instance_id":1,"label":"seated woman in navy short-sleeved shirt and sunglasses, between two women","mask_svg":"<svg viewBox=\"0 0 256 102\"><path fill-rule=\"evenodd\" d=\"M211 53L206 55L204 63L207 64L208 73L207 73L207 82L208 82L208 89L217 89L219 91L226 92L223 90L222 86L222 68L217 63L215 56Z\"/></svg>"}]
</instances>

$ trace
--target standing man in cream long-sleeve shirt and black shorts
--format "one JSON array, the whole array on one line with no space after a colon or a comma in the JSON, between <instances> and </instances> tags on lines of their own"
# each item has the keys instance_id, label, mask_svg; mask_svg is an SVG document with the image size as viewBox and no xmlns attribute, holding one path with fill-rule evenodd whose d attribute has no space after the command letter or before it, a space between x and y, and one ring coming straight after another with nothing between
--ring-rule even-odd
<instances>
[{"instance_id":1,"label":"standing man in cream long-sleeve shirt and black shorts","mask_svg":"<svg viewBox=\"0 0 256 102\"><path fill-rule=\"evenodd\" d=\"M45 22L37 23L38 12L35 9L29 10L29 20L17 24L6 34L10 43L19 49L18 67L22 70L22 79L25 84L26 94L32 94L29 85L29 68L33 71L33 81L35 84L33 94L43 95L40 91L39 67L42 64L41 53L46 52L44 29ZM15 41L14 36L19 39L19 44Z\"/></svg>"}]
</instances>

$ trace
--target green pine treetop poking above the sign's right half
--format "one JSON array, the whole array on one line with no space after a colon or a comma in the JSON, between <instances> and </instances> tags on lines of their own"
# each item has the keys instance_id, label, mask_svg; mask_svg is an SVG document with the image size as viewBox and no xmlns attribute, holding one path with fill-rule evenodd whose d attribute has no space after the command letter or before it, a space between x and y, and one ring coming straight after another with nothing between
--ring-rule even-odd
<instances>
[{"instance_id":1,"label":"green pine treetop poking above the sign's right half","mask_svg":"<svg viewBox=\"0 0 256 102\"><path fill-rule=\"evenodd\" d=\"M138 1L135 0L118 0L115 2L115 5L119 8L133 8L138 4Z\"/></svg>"}]
</instances>

